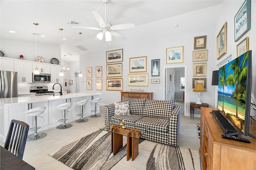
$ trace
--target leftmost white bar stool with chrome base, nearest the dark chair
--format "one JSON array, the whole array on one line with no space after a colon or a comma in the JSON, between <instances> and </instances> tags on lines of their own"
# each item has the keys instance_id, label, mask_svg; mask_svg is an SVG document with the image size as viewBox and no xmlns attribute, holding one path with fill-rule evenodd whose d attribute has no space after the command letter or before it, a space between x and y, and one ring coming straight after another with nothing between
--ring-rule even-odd
<instances>
[{"instance_id":1,"label":"leftmost white bar stool with chrome base, nearest the dark chair","mask_svg":"<svg viewBox=\"0 0 256 170\"><path fill-rule=\"evenodd\" d=\"M23 114L28 116L28 117L34 117L34 134L28 135L27 141L39 140L39 139L44 138L47 135L46 133L43 133L43 132L40 132L40 133L37 132L37 129L41 128L41 127L37 127L37 116L44 113L45 110L46 110L46 107L42 106L42 107L36 107L36 108L33 108L33 109L29 109L29 110L23 112ZM33 129L33 128L31 128L31 129Z\"/></svg>"}]
</instances>

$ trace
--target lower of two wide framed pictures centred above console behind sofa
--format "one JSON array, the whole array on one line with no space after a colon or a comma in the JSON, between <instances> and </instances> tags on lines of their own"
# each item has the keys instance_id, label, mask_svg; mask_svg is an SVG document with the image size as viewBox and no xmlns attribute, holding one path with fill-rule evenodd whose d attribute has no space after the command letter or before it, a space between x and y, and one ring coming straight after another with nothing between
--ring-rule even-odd
<instances>
[{"instance_id":1,"label":"lower of two wide framed pictures centred above console behind sofa","mask_svg":"<svg viewBox=\"0 0 256 170\"><path fill-rule=\"evenodd\" d=\"M128 86L148 86L148 73L128 74Z\"/></svg>"}]
</instances>

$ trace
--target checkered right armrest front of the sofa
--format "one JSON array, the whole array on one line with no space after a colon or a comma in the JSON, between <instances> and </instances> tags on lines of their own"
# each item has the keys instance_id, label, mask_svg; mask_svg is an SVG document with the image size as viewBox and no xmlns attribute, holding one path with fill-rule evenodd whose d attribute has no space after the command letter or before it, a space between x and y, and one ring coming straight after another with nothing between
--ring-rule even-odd
<instances>
[{"instance_id":1,"label":"checkered right armrest front of the sofa","mask_svg":"<svg viewBox=\"0 0 256 170\"><path fill-rule=\"evenodd\" d=\"M177 146L177 138L180 132L181 107L175 106L169 118L169 144Z\"/></svg>"}]
</instances>

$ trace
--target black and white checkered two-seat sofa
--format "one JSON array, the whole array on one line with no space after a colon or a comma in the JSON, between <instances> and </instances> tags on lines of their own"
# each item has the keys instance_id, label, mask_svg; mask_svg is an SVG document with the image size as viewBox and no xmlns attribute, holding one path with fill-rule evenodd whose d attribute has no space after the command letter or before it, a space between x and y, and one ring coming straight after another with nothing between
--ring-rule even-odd
<instances>
[{"instance_id":1,"label":"black and white checkered two-seat sofa","mask_svg":"<svg viewBox=\"0 0 256 170\"><path fill-rule=\"evenodd\" d=\"M105 127L110 128L111 122L119 122L148 127L141 138L176 146L180 130L181 107L174 101L134 99L122 97L128 101L131 115L114 115L114 103L104 106Z\"/></svg>"}]
</instances>

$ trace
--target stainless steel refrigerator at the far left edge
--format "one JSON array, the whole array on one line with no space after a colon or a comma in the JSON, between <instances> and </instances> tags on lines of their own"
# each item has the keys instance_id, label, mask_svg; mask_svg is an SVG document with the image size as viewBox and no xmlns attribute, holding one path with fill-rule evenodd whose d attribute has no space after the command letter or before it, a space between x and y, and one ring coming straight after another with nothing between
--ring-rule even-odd
<instances>
[{"instance_id":1,"label":"stainless steel refrigerator at the far left edge","mask_svg":"<svg viewBox=\"0 0 256 170\"><path fill-rule=\"evenodd\" d=\"M18 72L1 71L1 98L18 97Z\"/></svg>"}]
</instances>

